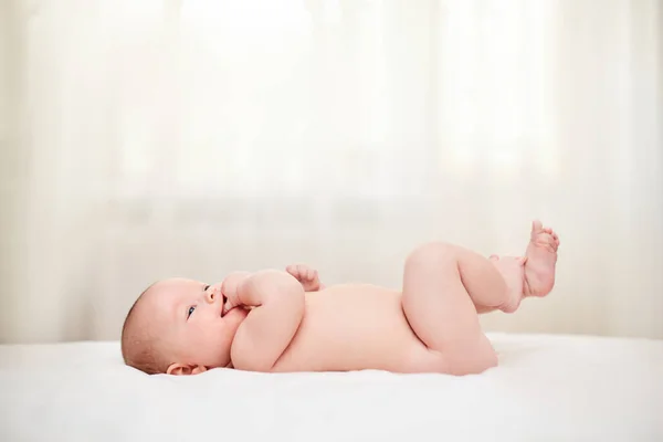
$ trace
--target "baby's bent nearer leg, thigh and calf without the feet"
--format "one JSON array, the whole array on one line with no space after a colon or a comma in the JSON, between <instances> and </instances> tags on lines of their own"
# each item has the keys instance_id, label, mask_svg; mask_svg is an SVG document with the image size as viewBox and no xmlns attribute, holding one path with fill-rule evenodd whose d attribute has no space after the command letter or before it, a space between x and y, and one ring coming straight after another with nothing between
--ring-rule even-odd
<instances>
[{"instance_id":1,"label":"baby's bent nearer leg, thigh and calf without the feet","mask_svg":"<svg viewBox=\"0 0 663 442\"><path fill-rule=\"evenodd\" d=\"M403 311L423 344L441 355L445 372L476 373L497 365L475 305L493 309L511 302L496 265L466 249L429 243L406 263Z\"/></svg>"}]
</instances>

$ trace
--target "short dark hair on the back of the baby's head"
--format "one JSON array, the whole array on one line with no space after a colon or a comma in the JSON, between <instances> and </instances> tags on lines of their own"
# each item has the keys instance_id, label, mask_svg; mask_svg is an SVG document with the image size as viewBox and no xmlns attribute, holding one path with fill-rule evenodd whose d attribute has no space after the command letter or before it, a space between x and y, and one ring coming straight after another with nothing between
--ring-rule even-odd
<instances>
[{"instance_id":1,"label":"short dark hair on the back of the baby's head","mask_svg":"<svg viewBox=\"0 0 663 442\"><path fill-rule=\"evenodd\" d=\"M148 375L165 373L168 362L155 349L157 337L137 320L137 313L145 294L154 286L151 284L138 296L122 327L122 357L129 367L137 368Z\"/></svg>"}]
</instances>

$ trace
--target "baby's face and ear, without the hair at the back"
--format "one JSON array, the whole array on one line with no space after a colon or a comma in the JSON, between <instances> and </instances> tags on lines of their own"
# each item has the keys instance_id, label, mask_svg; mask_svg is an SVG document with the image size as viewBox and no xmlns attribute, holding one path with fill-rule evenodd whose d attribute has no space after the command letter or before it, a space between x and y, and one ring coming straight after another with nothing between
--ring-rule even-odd
<instances>
[{"instance_id":1,"label":"baby's face and ear, without the hair at the back","mask_svg":"<svg viewBox=\"0 0 663 442\"><path fill-rule=\"evenodd\" d=\"M221 283L210 286L172 278L158 282L146 295L141 319L158 336L155 350L172 365L169 372L199 372L230 364L232 340L248 312L233 308L222 315Z\"/></svg>"}]
</instances>

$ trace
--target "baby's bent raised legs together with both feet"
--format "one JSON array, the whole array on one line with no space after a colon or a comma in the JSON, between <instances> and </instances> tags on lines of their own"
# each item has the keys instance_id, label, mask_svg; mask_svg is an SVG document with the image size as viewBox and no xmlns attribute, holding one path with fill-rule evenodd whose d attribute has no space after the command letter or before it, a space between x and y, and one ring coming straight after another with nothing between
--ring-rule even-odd
<instances>
[{"instance_id":1,"label":"baby's bent raised legs together with both feet","mask_svg":"<svg viewBox=\"0 0 663 442\"><path fill-rule=\"evenodd\" d=\"M534 221L525 257L490 260L456 245L424 244L406 263L403 311L429 350L451 373L480 372L497 364L478 313L515 312L524 297L546 296L555 285L559 238Z\"/></svg>"}]
</instances>

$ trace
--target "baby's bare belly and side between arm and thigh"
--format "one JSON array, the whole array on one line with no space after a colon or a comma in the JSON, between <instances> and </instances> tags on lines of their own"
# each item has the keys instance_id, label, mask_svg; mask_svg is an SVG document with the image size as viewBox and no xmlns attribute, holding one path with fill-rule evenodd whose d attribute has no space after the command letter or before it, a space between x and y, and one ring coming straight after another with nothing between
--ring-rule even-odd
<instances>
[{"instance_id":1,"label":"baby's bare belly and side between arm and thigh","mask_svg":"<svg viewBox=\"0 0 663 442\"><path fill-rule=\"evenodd\" d=\"M274 371L421 371L428 357L406 319L400 293L338 285L306 294L302 325Z\"/></svg>"}]
</instances>

